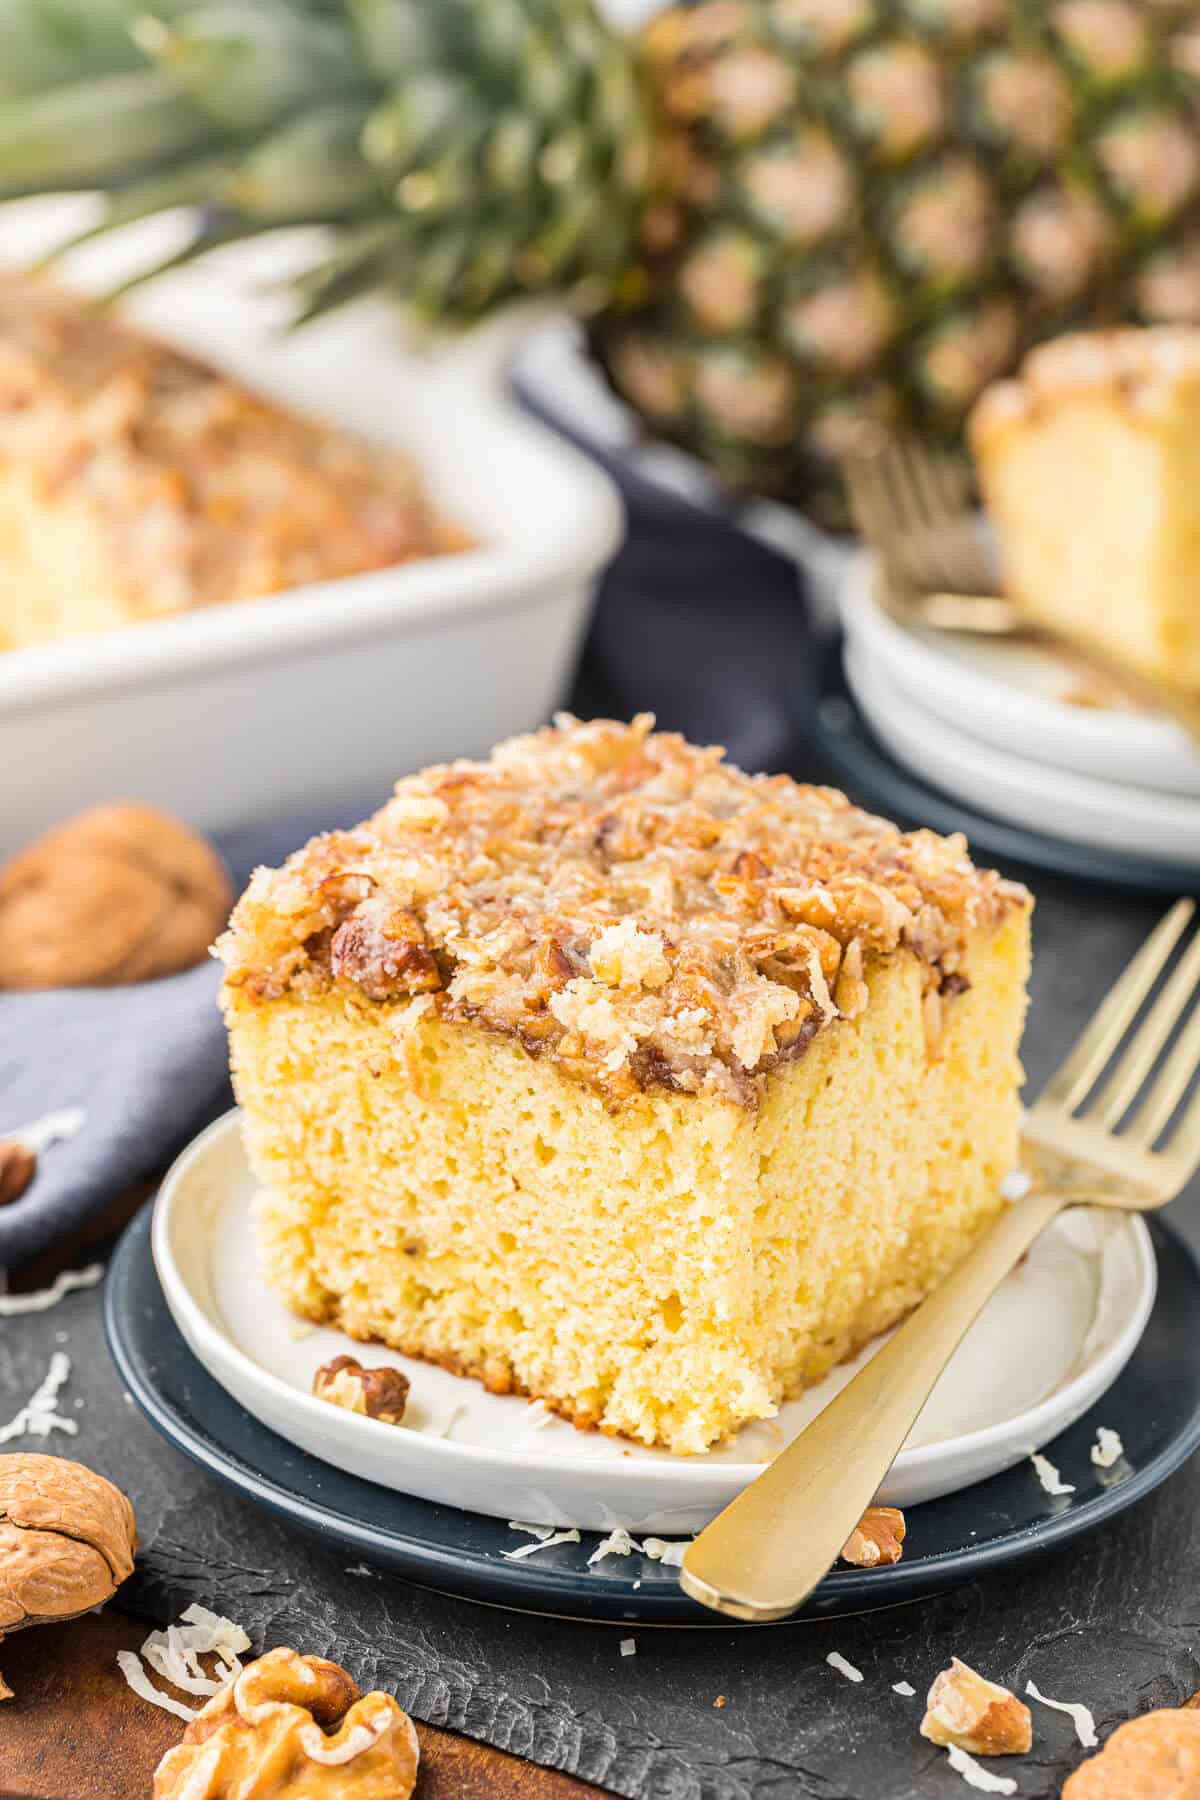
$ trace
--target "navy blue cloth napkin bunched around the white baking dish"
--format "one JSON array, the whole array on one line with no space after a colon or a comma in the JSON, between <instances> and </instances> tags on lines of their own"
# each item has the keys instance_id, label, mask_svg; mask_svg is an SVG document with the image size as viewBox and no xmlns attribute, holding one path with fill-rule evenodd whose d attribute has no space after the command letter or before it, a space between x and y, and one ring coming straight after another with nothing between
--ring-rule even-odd
<instances>
[{"instance_id":1,"label":"navy blue cloth napkin bunched around the white baking dish","mask_svg":"<svg viewBox=\"0 0 1200 1800\"><path fill-rule=\"evenodd\" d=\"M630 536L597 598L572 706L583 716L653 711L666 729L725 743L748 769L795 767L808 626L795 569L644 482L626 484ZM130 796L135 797L135 796ZM219 842L234 882L336 815L275 821ZM130 988L0 994L0 1138L61 1107L79 1132L52 1145L29 1192L0 1210L0 1269L83 1226L158 1174L232 1103L214 963Z\"/></svg>"}]
</instances>

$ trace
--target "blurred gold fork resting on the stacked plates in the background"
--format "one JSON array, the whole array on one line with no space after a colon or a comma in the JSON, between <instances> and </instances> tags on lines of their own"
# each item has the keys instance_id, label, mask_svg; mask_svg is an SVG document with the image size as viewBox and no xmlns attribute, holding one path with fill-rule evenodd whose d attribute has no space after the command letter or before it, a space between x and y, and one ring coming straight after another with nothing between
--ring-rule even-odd
<instances>
[{"instance_id":1,"label":"blurred gold fork resting on the stacked plates in the background","mask_svg":"<svg viewBox=\"0 0 1200 1800\"><path fill-rule=\"evenodd\" d=\"M1101 691L1168 713L1200 740L1200 700L1193 693L1150 680L1092 643L1054 637L995 592L961 459L916 437L864 428L842 470L855 526L876 560L880 599L894 617L937 632L1051 644L1090 670Z\"/></svg>"}]
</instances>

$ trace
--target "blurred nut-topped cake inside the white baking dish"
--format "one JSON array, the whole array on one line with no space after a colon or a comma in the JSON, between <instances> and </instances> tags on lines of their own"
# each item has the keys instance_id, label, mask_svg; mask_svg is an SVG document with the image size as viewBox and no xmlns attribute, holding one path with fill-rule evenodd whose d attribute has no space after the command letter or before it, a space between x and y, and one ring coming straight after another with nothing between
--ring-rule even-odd
<instances>
[{"instance_id":1,"label":"blurred nut-topped cake inside the white baking dish","mask_svg":"<svg viewBox=\"0 0 1200 1800\"><path fill-rule=\"evenodd\" d=\"M407 457L0 275L0 650L461 544Z\"/></svg>"}]
</instances>

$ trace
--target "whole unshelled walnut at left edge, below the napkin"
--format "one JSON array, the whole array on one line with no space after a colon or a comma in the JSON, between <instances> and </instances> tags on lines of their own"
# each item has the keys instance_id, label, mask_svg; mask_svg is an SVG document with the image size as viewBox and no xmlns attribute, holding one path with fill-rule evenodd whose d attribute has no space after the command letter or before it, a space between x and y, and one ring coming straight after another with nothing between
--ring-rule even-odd
<instances>
[{"instance_id":1,"label":"whole unshelled walnut at left edge, below the napkin","mask_svg":"<svg viewBox=\"0 0 1200 1800\"><path fill-rule=\"evenodd\" d=\"M104 1476L65 1456L0 1456L0 1642L112 1600L135 1550L133 1507Z\"/></svg>"}]
</instances>

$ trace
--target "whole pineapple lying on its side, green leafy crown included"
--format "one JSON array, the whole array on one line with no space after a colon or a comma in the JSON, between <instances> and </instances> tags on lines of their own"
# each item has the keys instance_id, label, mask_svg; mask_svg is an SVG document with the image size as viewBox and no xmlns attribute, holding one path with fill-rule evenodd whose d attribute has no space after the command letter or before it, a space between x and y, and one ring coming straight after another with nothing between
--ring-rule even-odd
<instances>
[{"instance_id":1,"label":"whole pineapple lying on its side, green leafy crown included","mask_svg":"<svg viewBox=\"0 0 1200 1800\"><path fill-rule=\"evenodd\" d=\"M0 193L335 227L300 315L561 292L649 428L817 506L1024 349L1200 322L1196 0L5 0Z\"/></svg>"}]
</instances>

